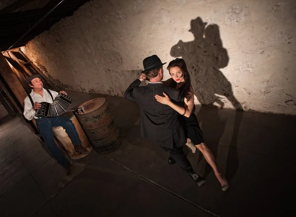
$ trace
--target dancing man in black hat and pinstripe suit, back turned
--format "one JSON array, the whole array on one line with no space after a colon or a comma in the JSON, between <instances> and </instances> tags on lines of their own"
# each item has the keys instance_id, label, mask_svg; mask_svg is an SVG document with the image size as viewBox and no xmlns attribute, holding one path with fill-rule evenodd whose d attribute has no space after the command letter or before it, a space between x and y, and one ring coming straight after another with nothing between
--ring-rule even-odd
<instances>
[{"instance_id":1,"label":"dancing man in black hat and pinstripe suit, back turned","mask_svg":"<svg viewBox=\"0 0 296 217\"><path fill-rule=\"evenodd\" d=\"M166 63L162 63L156 55L145 58L143 60L145 70L140 78L130 84L124 93L124 98L140 106L142 137L149 138L165 151L170 151L170 158L175 160L200 186L205 181L194 172L182 150L187 140L178 113L169 106L158 103L154 97L156 94L162 96L165 92L172 102L184 106L180 91L165 87L161 82L164 64ZM149 78L149 84L139 87L146 77Z\"/></svg>"}]
</instances>

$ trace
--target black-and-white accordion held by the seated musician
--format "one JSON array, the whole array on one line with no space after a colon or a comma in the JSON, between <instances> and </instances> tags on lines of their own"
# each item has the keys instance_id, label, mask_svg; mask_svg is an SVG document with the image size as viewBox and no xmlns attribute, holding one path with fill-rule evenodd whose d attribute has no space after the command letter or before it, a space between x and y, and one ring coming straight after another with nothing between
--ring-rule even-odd
<instances>
[{"instance_id":1,"label":"black-and-white accordion held by the seated musician","mask_svg":"<svg viewBox=\"0 0 296 217\"><path fill-rule=\"evenodd\" d=\"M71 105L72 98L59 94L53 103L42 102L41 108L36 110L36 117L56 117L63 114Z\"/></svg>"}]
</instances>

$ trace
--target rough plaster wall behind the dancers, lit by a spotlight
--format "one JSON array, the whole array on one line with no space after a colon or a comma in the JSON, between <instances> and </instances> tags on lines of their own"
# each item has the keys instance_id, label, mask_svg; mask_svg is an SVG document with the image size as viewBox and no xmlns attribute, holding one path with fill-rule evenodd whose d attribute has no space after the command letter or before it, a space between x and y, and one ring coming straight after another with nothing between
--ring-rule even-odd
<instances>
[{"instance_id":1,"label":"rough plaster wall behind the dancers, lit by a spotlight","mask_svg":"<svg viewBox=\"0 0 296 217\"><path fill-rule=\"evenodd\" d=\"M22 50L63 88L116 96L145 57L182 57L196 104L296 114L295 23L295 0L93 0Z\"/></svg>"}]
</instances>

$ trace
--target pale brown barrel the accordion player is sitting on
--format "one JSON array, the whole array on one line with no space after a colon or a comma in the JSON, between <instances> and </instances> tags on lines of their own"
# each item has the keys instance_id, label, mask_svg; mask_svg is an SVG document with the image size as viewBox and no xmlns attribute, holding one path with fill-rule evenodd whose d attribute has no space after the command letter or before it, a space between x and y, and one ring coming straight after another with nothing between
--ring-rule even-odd
<instances>
[{"instance_id":1,"label":"pale brown barrel the accordion player is sitting on","mask_svg":"<svg viewBox=\"0 0 296 217\"><path fill-rule=\"evenodd\" d=\"M72 159L80 159L82 157L87 156L93 148L92 148L91 144L89 143L89 140L87 139L84 131L82 130L73 111L66 111L64 114L62 114L62 116L66 116L70 120L72 120L72 122L76 128L76 131L78 133L79 139L81 140L81 145L88 150L88 153L87 154L77 153L74 149L74 145L73 145L71 139L69 138L68 134L66 133L66 130L61 126L56 126L56 127L52 128L55 138L62 145L62 149L65 150Z\"/></svg>"}]
</instances>

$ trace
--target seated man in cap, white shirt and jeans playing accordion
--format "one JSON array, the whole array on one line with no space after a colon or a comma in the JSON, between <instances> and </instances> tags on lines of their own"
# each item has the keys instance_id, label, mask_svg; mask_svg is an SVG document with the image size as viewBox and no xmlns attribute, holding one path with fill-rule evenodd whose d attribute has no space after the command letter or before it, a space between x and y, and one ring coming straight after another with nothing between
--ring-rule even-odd
<instances>
[{"instance_id":1,"label":"seated man in cap, white shirt and jeans playing accordion","mask_svg":"<svg viewBox=\"0 0 296 217\"><path fill-rule=\"evenodd\" d=\"M48 150L51 154L57 159L60 165L64 167L64 172L68 176L71 173L71 163L67 160L67 158L63 155L61 150L55 144L52 127L53 126L62 126L66 133L69 135L71 139L74 149L76 152L80 154L87 154L88 151L81 145L81 141L77 134L76 128L71 120L69 120L65 116L57 116L57 117L36 117L35 113L37 109L41 108L41 102L53 103L54 98L58 95L56 91L47 90L43 88L43 83L40 79L40 75L34 74L31 75L27 79L28 85L32 88L32 92L30 96L33 100L34 105L27 96L24 101L24 116L28 120L36 119L37 126L43 137ZM61 91L60 93L66 94L65 91Z\"/></svg>"}]
</instances>

